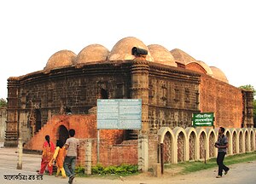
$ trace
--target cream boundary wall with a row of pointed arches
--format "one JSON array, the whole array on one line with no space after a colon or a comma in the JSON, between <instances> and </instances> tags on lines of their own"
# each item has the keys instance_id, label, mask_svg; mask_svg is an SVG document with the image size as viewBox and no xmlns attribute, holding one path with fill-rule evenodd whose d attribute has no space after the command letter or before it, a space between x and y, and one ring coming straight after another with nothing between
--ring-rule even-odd
<instances>
[{"instance_id":1,"label":"cream boundary wall with a row of pointed arches","mask_svg":"<svg viewBox=\"0 0 256 184\"><path fill-rule=\"evenodd\" d=\"M162 127L158 135L159 144L162 143L164 147L168 147L163 151L165 164L217 157L218 149L214 147L214 143L218 140L218 129ZM256 151L255 128L227 128L224 135L229 140L227 155ZM172 158L167 159L168 155L172 155Z\"/></svg>"}]
</instances>

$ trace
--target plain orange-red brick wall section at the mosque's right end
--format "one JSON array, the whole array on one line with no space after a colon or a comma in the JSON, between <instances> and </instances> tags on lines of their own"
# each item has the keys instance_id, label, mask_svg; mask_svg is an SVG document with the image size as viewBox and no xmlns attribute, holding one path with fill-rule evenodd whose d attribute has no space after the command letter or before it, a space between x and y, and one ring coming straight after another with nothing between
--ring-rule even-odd
<instances>
[{"instance_id":1,"label":"plain orange-red brick wall section at the mosque's right end","mask_svg":"<svg viewBox=\"0 0 256 184\"><path fill-rule=\"evenodd\" d=\"M242 106L241 89L207 75L201 76L200 110L215 112L215 127L241 128Z\"/></svg>"}]
</instances>

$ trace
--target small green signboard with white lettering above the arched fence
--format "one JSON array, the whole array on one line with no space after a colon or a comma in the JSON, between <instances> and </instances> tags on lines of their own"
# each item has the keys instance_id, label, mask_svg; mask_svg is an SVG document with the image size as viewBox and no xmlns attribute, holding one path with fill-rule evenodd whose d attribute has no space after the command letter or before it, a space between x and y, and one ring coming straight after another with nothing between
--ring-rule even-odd
<instances>
[{"instance_id":1,"label":"small green signboard with white lettering above the arched fence","mask_svg":"<svg viewBox=\"0 0 256 184\"><path fill-rule=\"evenodd\" d=\"M214 114L213 112L193 113L193 126L213 126Z\"/></svg>"}]
</instances>

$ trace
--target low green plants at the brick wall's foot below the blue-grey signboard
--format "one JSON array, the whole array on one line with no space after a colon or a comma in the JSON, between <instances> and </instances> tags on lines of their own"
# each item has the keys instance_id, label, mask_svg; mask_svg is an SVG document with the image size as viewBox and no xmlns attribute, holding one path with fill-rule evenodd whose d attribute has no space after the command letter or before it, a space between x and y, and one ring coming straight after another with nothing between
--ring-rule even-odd
<instances>
[{"instance_id":1,"label":"low green plants at the brick wall's foot below the blue-grey signboard","mask_svg":"<svg viewBox=\"0 0 256 184\"><path fill-rule=\"evenodd\" d=\"M108 166L103 167L101 164L91 168L91 173L93 175L115 175L115 174L133 174L138 172L137 165L121 164L119 166Z\"/></svg>"}]
</instances>

